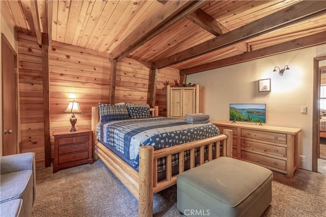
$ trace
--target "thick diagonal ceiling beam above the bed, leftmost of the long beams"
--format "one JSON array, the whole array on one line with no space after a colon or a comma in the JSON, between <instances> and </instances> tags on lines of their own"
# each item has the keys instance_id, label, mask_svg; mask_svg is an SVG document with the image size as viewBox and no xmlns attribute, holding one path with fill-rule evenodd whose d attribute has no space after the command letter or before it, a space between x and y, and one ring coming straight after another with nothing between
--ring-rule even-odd
<instances>
[{"instance_id":1,"label":"thick diagonal ceiling beam above the bed, leftmost of the long beams","mask_svg":"<svg viewBox=\"0 0 326 217\"><path fill-rule=\"evenodd\" d=\"M126 37L111 52L110 59L121 60L175 22L208 3L209 1L168 1L147 22Z\"/></svg>"}]
</instances>

